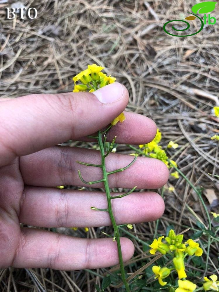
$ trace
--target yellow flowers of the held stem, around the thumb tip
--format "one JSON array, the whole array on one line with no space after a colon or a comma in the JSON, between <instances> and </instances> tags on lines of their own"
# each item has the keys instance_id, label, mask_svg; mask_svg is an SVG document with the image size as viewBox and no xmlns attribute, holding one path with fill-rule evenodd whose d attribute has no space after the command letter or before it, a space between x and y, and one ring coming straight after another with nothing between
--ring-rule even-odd
<instances>
[{"instance_id":1,"label":"yellow flowers of the held stem, around the thumb tip","mask_svg":"<svg viewBox=\"0 0 219 292\"><path fill-rule=\"evenodd\" d=\"M107 76L102 71L104 67L98 66L96 64L88 65L88 68L81 71L79 74L74 76L72 79L74 81L73 92L88 91L94 92L95 90L106 86L108 84L114 83L116 81L115 77L111 75ZM121 113L117 118L115 118L111 125L115 126L119 121L123 122L126 119L124 113Z\"/></svg>"}]
</instances>

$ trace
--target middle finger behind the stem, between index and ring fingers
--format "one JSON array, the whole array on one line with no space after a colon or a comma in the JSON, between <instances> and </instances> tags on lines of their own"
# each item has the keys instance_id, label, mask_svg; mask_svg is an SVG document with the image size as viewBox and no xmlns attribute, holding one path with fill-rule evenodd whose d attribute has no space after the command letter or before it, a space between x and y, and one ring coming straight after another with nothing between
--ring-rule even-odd
<instances>
[{"instance_id":1,"label":"middle finger behind the stem, between index and ring fingers","mask_svg":"<svg viewBox=\"0 0 219 292\"><path fill-rule=\"evenodd\" d=\"M106 158L107 171L114 171L128 165L133 156L110 153ZM102 179L102 169L85 166L76 161L100 164L100 153L97 150L55 146L20 158L20 171L27 185L53 187L58 185L79 185L82 183L78 170L86 181ZM122 172L108 176L109 187L156 189L168 180L168 168L157 159L138 157L133 165ZM92 187L103 187L96 183Z\"/></svg>"}]
</instances>

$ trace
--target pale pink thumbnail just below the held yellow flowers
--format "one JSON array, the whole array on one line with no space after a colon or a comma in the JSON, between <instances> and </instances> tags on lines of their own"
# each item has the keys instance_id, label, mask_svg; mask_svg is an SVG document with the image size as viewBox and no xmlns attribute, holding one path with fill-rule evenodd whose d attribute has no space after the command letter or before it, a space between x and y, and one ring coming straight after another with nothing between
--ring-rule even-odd
<instances>
[{"instance_id":1,"label":"pale pink thumbnail just below the held yellow flowers","mask_svg":"<svg viewBox=\"0 0 219 292\"><path fill-rule=\"evenodd\" d=\"M99 88L94 91L93 94L96 95L100 102L111 103L121 99L123 96L123 91L123 86L120 83L115 82Z\"/></svg>"}]
</instances>

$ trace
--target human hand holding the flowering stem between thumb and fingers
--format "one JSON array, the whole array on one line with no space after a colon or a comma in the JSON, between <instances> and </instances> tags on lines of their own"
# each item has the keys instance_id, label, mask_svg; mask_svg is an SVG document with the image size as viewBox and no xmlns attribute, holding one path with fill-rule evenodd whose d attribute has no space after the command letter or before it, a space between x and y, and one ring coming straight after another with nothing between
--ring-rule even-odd
<instances>
[{"instance_id":1,"label":"human hand holding the flowering stem between thumb and fingers","mask_svg":"<svg viewBox=\"0 0 219 292\"><path fill-rule=\"evenodd\" d=\"M96 96L98 97L96 97ZM109 102L112 100L113 102ZM116 100L117 98L117 100ZM100 102L100 100L102 102ZM60 190L56 185L80 185L77 160L100 163L96 150L54 146L67 140L86 140L107 126L128 103L128 92L119 83L94 93L29 95L0 102L0 269L51 267L79 270L118 263L117 245L110 238L81 239L37 228L98 227L110 225L103 192ZM117 143L145 144L156 135L152 120L126 112L126 120L108 133ZM84 138L83 138L84 137ZM132 156L111 153L107 169L126 166ZM101 169L80 165L83 178L98 180ZM168 169L157 159L138 157L124 172L110 175L109 186L158 188L166 183ZM103 187L101 183L93 185ZM93 187L92 186L92 187ZM135 192L112 200L118 224L159 218L164 202L155 192ZM133 256L131 240L121 238L124 261Z\"/></svg>"}]
</instances>

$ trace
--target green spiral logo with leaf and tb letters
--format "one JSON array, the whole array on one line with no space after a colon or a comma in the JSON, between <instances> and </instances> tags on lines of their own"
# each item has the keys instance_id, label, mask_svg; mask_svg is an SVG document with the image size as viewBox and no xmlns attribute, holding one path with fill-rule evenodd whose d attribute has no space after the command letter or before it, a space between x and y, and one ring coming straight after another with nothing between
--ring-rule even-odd
<instances>
[{"instance_id":1,"label":"green spiral logo with leaf and tb letters","mask_svg":"<svg viewBox=\"0 0 219 292\"><path fill-rule=\"evenodd\" d=\"M216 23L217 20L216 20L215 17L213 17L213 16L211 17L211 14L207 15L207 13L212 12L214 10L215 4L217 4L217 2L207 1L207 2L201 2L201 3L195 4L194 6L192 6L192 12L193 13L190 13L190 14L192 14L193 16L187 16L185 19L189 20L189 21L192 21L192 20L195 20L195 19L199 19L201 21L201 27L200 27L199 31L195 32L194 34L198 34L199 32L201 32L201 30L204 27L204 24L205 25L207 24L207 20L208 20L208 25L214 25ZM205 13L205 15L203 17L204 21L201 19L201 17L199 17L197 15L197 13L199 13L199 14ZM174 21L181 21L181 22L185 22L187 24L187 27L185 29L176 29L174 27L174 25L173 25L172 29L175 30L175 31L182 32L182 31L185 31L185 30L190 28L189 22L187 22L185 20L180 20L180 19L170 20L170 21L168 21L168 22L166 22L164 24L163 29L167 34L169 34L171 36L179 36L179 35L176 35L176 34L171 34L170 32L168 32L166 30L166 25L168 25L168 23L174 22ZM182 37L182 36L193 36L194 34L180 35L180 37Z\"/></svg>"}]
</instances>

